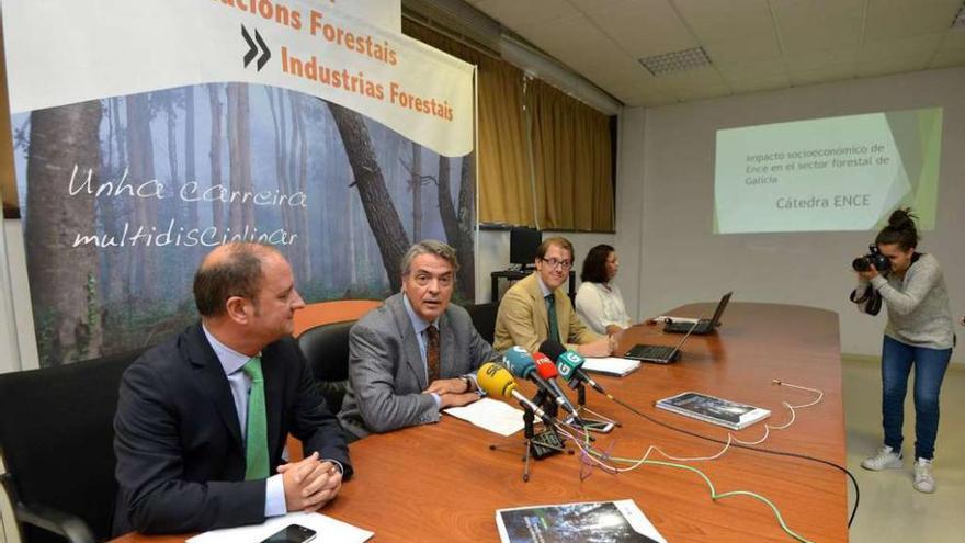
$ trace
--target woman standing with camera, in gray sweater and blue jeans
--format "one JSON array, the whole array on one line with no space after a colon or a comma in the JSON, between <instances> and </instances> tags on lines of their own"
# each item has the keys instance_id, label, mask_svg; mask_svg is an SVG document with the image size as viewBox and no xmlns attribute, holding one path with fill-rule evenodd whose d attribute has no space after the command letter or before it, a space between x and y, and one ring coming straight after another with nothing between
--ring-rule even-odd
<instances>
[{"instance_id":1,"label":"woman standing with camera, in gray sweater and blue jeans","mask_svg":"<svg viewBox=\"0 0 965 543\"><path fill-rule=\"evenodd\" d=\"M888 307L888 324L882 347L882 415L885 443L861 466L866 470L901 468L901 427L908 375L915 366L915 489L935 489L931 464L939 430L939 392L952 357L954 335L949 292L939 261L917 252L918 230L910 208L896 210L875 238L890 272L874 265L859 271L852 299L865 310L864 302L881 296Z\"/></svg>"}]
</instances>

